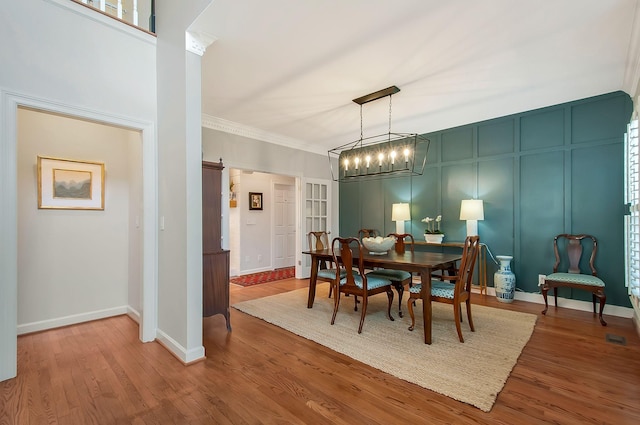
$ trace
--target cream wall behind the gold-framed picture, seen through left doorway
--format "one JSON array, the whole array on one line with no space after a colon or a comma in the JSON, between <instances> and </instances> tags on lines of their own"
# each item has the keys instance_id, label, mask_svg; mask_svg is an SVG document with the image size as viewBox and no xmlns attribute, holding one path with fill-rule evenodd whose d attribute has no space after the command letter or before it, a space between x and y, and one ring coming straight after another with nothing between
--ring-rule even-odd
<instances>
[{"instance_id":1,"label":"cream wall behind the gold-framed picture, seen through left doorway","mask_svg":"<svg viewBox=\"0 0 640 425\"><path fill-rule=\"evenodd\" d=\"M129 243L139 239L129 233L129 155L141 147L139 134L131 143L130 133L19 109L18 333L127 311ZM38 155L104 162L105 209L38 209ZM139 276L140 254L131 261ZM139 290L133 281L132 291Z\"/></svg>"}]
</instances>

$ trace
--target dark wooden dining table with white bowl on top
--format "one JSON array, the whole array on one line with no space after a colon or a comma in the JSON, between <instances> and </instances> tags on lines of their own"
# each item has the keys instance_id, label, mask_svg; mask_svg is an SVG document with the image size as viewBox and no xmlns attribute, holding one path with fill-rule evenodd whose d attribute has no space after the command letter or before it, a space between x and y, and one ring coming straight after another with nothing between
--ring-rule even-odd
<instances>
[{"instance_id":1,"label":"dark wooden dining table with white bowl on top","mask_svg":"<svg viewBox=\"0 0 640 425\"><path fill-rule=\"evenodd\" d=\"M307 308L312 308L316 297L318 268L323 260L331 260L333 254L330 249L303 251L303 254L311 256L311 277L309 278ZM462 254L423 251L405 251L402 254L398 254L394 250L390 250L382 255L364 251L363 255L364 265L367 268L383 267L420 273L424 342L425 344L431 344L431 272L435 269L448 268L452 263L461 260ZM358 253L354 252L354 257L358 258Z\"/></svg>"}]
</instances>

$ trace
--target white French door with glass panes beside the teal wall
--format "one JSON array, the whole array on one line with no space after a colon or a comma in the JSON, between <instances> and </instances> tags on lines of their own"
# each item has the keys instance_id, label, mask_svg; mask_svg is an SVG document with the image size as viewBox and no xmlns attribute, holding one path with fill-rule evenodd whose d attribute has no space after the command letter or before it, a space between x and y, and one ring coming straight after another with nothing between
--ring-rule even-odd
<instances>
[{"instance_id":1,"label":"white French door with glass panes beside the teal wall","mask_svg":"<svg viewBox=\"0 0 640 425\"><path fill-rule=\"evenodd\" d=\"M320 179L302 180L302 247L309 249L307 234L311 231L331 231L331 181ZM331 235L329 235L331 242ZM300 277L311 275L311 256L303 255L300 265Z\"/></svg>"}]
</instances>

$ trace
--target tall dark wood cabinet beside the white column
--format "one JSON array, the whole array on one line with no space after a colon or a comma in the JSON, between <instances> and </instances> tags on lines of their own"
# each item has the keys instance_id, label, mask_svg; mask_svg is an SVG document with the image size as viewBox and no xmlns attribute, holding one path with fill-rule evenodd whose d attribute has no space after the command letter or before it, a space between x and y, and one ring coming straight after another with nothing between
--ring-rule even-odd
<instances>
[{"instance_id":1,"label":"tall dark wood cabinet beside the white column","mask_svg":"<svg viewBox=\"0 0 640 425\"><path fill-rule=\"evenodd\" d=\"M202 162L202 315L229 321L229 251L222 249L222 159Z\"/></svg>"}]
</instances>

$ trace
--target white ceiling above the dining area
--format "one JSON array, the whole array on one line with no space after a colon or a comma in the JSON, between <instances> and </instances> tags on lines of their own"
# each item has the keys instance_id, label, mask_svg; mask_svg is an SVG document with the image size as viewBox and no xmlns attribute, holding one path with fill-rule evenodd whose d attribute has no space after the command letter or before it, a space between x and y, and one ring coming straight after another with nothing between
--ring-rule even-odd
<instances>
[{"instance_id":1,"label":"white ceiling above the dining area","mask_svg":"<svg viewBox=\"0 0 640 425\"><path fill-rule=\"evenodd\" d=\"M213 0L189 30L216 39L203 122L325 154L360 138L352 99L392 85L391 129L411 133L633 94L639 2ZM388 131L389 109L362 106L364 137Z\"/></svg>"}]
</instances>

